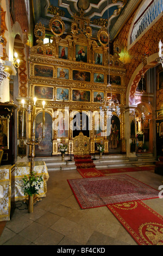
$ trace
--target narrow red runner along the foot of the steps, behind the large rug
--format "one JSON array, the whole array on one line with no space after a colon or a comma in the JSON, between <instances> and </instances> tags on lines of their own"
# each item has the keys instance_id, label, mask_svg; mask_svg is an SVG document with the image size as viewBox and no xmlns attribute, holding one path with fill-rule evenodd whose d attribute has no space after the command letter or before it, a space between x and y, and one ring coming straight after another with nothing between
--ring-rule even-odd
<instances>
[{"instance_id":1,"label":"narrow red runner along the foot of the steps, behind the large rug","mask_svg":"<svg viewBox=\"0 0 163 256\"><path fill-rule=\"evenodd\" d=\"M100 169L100 172L103 174L110 174L110 173L140 172L142 170L154 170L154 166Z\"/></svg>"}]
</instances>

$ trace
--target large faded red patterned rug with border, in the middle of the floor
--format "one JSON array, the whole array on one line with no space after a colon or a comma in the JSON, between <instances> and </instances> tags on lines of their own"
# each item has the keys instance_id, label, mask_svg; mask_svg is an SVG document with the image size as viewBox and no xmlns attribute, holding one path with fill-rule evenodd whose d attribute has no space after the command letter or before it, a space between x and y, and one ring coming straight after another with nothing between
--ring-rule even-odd
<instances>
[{"instance_id":1,"label":"large faded red patterned rug with border, in the middle of the floor","mask_svg":"<svg viewBox=\"0 0 163 256\"><path fill-rule=\"evenodd\" d=\"M159 197L159 191L127 174L67 181L82 209Z\"/></svg>"}]
</instances>

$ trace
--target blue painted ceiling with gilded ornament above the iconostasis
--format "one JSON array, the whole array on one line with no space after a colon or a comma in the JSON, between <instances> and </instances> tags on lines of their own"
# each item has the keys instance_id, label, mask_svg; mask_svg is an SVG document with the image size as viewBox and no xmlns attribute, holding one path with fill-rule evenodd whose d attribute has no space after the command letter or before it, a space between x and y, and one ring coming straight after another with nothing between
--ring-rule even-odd
<instances>
[{"instance_id":1,"label":"blue painted ceiling with gilded ornament above the iconostasis","mask_svg":"<svg viewBox=\"0 0 163 256\"><path fill-rule=\"evenodd\" d=\"M41 22L45 28L48 28L49 20L54 16L54 10L59 11L61 14L59 16L65 22L68 33L73 21L72 16L83 9L84 16L90 19L90 25L95 31L101 26L99 23L103 19L108 21L109 16L109 32L114 30L114 33L110 33L113 40L120 26L124 25L140 2L141 0L33 0L34 21L35 24Z\"/></svg>"}]
</instances>

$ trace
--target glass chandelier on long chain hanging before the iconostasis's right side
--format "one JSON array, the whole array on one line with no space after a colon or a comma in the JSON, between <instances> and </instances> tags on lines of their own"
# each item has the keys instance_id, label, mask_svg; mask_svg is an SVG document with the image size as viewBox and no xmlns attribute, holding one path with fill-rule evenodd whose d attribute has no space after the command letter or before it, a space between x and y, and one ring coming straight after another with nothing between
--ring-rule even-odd
<instances>
[{"instance_id":1,"label":"glass chandelier on long chain hanging before the iconostasis's right side","mask_svg":"<svg viewBox=\"0 0 163 256\"><path fill-rule=\"evenodd\" d=\"M109 6L109 3L108 3ZM110 96L107 99L102 99L100 102L102 106L99 107L99 113L104 116L104 113L111 119L112 113L115 112L118 116L121 114L119 102L116 97L112 97L111 84L110 84L110 52L109 52L109 8L108 8L108 65L109 65L109 81L107 88L110 88Z\"/></svg>"}]
</instances>

